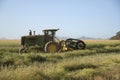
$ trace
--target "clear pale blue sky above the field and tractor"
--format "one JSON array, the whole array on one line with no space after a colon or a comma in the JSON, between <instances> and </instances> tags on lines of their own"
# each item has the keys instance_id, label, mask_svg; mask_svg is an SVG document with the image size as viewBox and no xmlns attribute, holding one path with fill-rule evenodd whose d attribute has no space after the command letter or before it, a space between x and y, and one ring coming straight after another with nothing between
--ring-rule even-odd
<instances>
[{"instance_id":1,"label":"clear pale blue sky above the field and tractor","mask_svg":"<svg viewBox=\"0 0 120 80\"><path fill-rule=\"evenodd\" d=\"M0 0L0 37L53 28L61 37L110 38L120 31L120 0Z\"/></svg>"}]
</instances>

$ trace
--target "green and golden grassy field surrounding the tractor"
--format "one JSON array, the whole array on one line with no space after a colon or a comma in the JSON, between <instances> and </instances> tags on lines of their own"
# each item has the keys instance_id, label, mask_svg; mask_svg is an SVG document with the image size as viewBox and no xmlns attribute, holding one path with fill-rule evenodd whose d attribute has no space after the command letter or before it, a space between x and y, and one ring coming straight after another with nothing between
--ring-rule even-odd
<instances>
[{"instance_id":1,"label":"green and golden grassy field surrounding the tractor","mask_svg":"<svg viewBox=\"0 0 120 80\"><path fill-rule=\"evenodd\" d=\"M0 80L120 80L120 41L85 43L85 50L18 54L20 40L0 40Z\"/></svg>"}]
</instances>

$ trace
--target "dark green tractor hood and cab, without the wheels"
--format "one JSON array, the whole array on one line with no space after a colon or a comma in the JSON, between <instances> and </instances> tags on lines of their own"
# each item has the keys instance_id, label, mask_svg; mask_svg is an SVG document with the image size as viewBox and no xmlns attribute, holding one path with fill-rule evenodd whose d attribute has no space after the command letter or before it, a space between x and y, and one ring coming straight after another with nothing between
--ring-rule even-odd
<instances>
[{"instance_id":1,"label":"dark green tractor hood and cab, without the wheels","mask_svg":"<svg viewBox=\"0 0 120 80\"><path fill-rule=\"evenodd\" d=\"M44 35L32 35L29 33L28 36L23 36L21 39L21 44L23 46L41 46L43 47L47 42L54 41L55 32L58 29L48 29L43 30Z\"/></svg>"}]
</instances>

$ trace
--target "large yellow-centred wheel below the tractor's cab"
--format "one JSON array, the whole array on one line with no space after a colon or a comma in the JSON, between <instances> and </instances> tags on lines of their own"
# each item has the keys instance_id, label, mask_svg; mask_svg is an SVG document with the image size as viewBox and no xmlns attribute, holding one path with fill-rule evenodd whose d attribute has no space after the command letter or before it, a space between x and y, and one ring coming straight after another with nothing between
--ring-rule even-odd
<instances>
[{"instance_id":1,"label":"large yellow-centred wheel below the tractor's cab","mask_svg":"<svg viewBox=\"0 0 120 80\"><path fill-rule=\"evenodd\" d=\"M44 51L47 53L56 53L60 49L60 45L57 42L47 42L44 47Z\"/></svg>"}]
</instances>

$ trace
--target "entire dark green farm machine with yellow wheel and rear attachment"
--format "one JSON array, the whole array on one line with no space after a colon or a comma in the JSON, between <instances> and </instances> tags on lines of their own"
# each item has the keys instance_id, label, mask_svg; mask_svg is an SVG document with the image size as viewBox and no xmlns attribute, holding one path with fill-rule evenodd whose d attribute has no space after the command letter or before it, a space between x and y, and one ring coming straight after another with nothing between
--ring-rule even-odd
<instances>
[{"instance_id":1,"label":"entire dark green farm machine with yellow wheel and rear attachment","mask_svg":"<svg viewBox=\"0 0 120 80\"><path fill-rule=\"evenodd\" d=\"M46 29L43 30L44 35L32 35L30 30L29 35L21 37L22 48L19 53L26 53L29 50L42 50L47 53L56 53L69 50L85 49L86 44L78 39L59 40L55 37L56 31L59 29Z\"/></svg>"}]
</instances>

